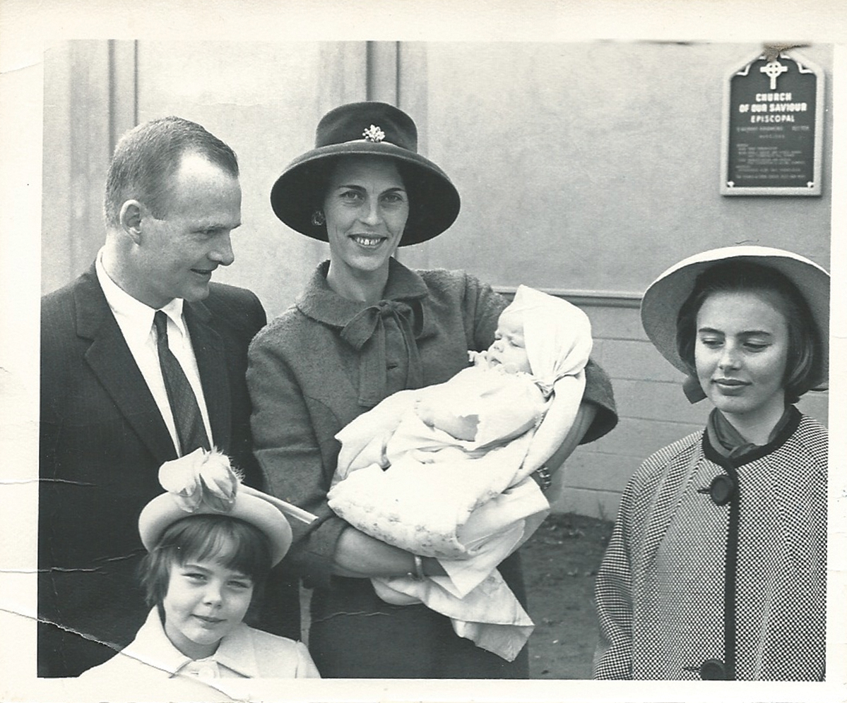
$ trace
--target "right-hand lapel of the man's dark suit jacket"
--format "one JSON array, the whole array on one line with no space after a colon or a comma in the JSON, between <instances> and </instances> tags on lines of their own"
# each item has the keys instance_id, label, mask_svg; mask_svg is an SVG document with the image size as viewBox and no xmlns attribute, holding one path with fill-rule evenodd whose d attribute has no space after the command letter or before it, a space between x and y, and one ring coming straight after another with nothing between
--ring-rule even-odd
<instances>
[{"instance_id":1,"label":"right-hand lapel of the man's dark suit jacket","mask_svg":"<svg viewBox=\"0 0 847 703\"><path fill-rule=\"evenodd\" d=\"M217 448L228 451L230 448L230 370L226 363L224 341L211 326L212 314L202 303L185 303L183 308L185 324L191 335L191 346L200 371L203 396L212 437Z\"/></svg>"}]
</instances>

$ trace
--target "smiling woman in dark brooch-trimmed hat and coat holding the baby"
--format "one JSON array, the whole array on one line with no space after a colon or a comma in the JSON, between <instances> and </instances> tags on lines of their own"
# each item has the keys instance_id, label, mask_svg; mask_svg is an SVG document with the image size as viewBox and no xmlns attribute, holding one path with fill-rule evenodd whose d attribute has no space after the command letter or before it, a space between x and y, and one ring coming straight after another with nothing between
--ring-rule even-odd
<instances>
[{"instance_id":1,"label":"smiling woman in dark brooch-trimmed hat and coat holding the baby","mask_svg":"<svg viewBox=\"0 0 847 703\"><path fill-rule=\"evenodd\" d=\"M460 638L446 616L381 601L372 577L442 574L440 563L352 529L326 498L342 427L391 393L445 382L468 365L468 350L493 341L507 300L467 273L412 271L394 258L450 227L456 188L418 154L406 113L357 102L320 120L315 148L285 168L271 205L289 228L329 243L296 304L253 341L247 374L268 490L318 515L294 525L290 557L314 588L318 668L324 677L525 678L525 651L506 662ZM590 364L586 378L566 451L616 420L605 374ZM523 601L518 556L500 568Z\"/></svg>"}]
</instances>

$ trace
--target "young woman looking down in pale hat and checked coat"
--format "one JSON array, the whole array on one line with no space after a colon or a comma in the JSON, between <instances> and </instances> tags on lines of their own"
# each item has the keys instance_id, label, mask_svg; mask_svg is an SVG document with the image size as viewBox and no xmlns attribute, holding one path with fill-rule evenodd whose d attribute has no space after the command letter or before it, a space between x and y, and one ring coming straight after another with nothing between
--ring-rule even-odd
<instances>
[{"instance_id":1,"label":"young woman looking down in pale hat and checked coat","mask_svg":"<svg viewBox=\"0 0 847 703\"><path fill-rule=\"evenodd\" d=\"M820 680L829 276L789 251L710 250L647 289L650 341L714 406L623 493L596 580L596 678Z\"/></svg>"}]
</instances>

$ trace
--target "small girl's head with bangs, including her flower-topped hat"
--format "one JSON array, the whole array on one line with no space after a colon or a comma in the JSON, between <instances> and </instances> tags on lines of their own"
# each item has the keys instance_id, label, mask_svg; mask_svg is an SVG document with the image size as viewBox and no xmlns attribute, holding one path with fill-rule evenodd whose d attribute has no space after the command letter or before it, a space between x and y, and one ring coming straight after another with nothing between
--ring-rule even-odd
<instances>
[{"instance_id":1,"label":"small girl's head with bangs, including her flower-topped hat","mask_svg":"<svg viewBox=\"0 0 847 703\"><path fill-rule=\"evenodd\" d=\"M174 647L201 659L259 601L291 545L291 526L263 493L239 491L223 454L197 450L167 462L159 481L168 492L138 519L147 548L141 583Z\"/></svg>"}]
</instances>

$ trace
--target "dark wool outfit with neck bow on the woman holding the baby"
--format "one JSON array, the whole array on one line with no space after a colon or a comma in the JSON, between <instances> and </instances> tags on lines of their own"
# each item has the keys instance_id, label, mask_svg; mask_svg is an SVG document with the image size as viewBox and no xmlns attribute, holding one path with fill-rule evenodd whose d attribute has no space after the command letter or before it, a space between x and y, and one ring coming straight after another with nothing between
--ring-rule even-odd
<instances>
[{"instance_id":1,"label":"dark wool outfit with neck bow on the woman holding the baby","mask_svg":"<svg viewBox=\"0 0 847 703\"><path fill-rule=\"evenodd\" d=\"M525 675L507 673L507 662L474 651L468 640L459 643L447 618L423 606L390 606L369 579L331 576L335 543L347 525L326 498L340 449L336 433L390 393L445 382L461 371L468 350L487 349L494 339L507 300L464 272L416 272L391 259L385 300L368 306L335 294L326 283L328 267L327 261L318 266L296 304L257 334L247 370L255 451L268 490L319 516L309 528L292 525L290 552L306 584L318 586L310 632L318 669L324 678ZM370 312L374 335L360 352L347 331ZM368 382L374 346L385 373L379 393ZM409 359L416 354L421 375L410 382ZM611 384L591 363L584 398L598 405L584 437L590 441L617 421ZM501 563L501 573L523 601L518 554ZM356 625L351 613L362 613L366 622ZM374 614L390 618L369 617ZM352 641L362 644L352 647ZM484 655L490 662L477 659ZM515 666L525 670L525 656Z\"/></svg>"}]
</instances>

